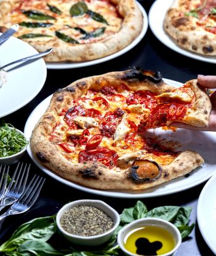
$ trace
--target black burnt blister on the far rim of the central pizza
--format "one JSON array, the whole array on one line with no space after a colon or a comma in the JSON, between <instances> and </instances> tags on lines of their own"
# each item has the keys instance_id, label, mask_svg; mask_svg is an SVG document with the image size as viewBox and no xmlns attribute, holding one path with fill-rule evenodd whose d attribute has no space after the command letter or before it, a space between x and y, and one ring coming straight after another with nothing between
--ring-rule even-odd
<instances>
[{"instance_id":1,"label":"black burnt blister on the far rim of the central pizza","mask_svg":"<svg viewBox=\"0 0 216 256\"><path fill-rule=\"evenodd\" d=\"M120 79L124 80L134 80L143 81L145 79L150 80L154 83L159 83L162 80L162 74L159 71L152 71L141 69L140 67L133 67L133 69L126 70Z\"/></svg>"}]
</instances>

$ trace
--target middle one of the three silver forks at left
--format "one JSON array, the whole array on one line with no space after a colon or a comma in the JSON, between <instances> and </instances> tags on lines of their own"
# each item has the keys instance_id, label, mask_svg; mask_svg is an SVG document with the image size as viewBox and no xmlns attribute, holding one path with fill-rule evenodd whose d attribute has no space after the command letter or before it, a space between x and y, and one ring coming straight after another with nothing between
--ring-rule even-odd
<instances>
[{"instance_id":1,"label":"middle one of the three silver forks at left","mask_svg":"<svg viewBox=\"0 0 216 256\"><path fill-rule=\"evenodd\" d=\"M0 211L7 205L11 205L12 203L16 202L25 189L31 164L25 164L24 168L23 165L23 163L21 166L20 163L17 164L17 168L15 169L9 186L1 199Z\"/></svg>"}]
</instances>

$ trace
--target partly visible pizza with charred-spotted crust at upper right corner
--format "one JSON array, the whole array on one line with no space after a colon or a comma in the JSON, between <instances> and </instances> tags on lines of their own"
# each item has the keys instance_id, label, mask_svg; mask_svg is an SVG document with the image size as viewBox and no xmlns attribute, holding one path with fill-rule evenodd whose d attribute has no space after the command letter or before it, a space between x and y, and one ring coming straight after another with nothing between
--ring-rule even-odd
<instances>
[{"instance_id":1,"label":"partly visible pizza with charred-spotted crust at upper right corner","mask_svg":"<svg viewBox=\"0 0 216 256\"><path fill-rule=\"evenodd\" d=\"M216 1L175 0L165 15L164 29L182 48L216 55Z\"/></svg>"}]
</instances>

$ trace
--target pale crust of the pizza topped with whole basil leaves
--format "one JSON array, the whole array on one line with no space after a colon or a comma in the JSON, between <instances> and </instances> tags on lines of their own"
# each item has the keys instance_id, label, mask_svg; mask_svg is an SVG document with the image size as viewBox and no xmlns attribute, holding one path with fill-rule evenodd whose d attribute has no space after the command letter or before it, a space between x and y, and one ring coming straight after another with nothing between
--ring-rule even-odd
<instances>
[{"instance_id":1,"label":"pale crust of the pizza topped with whole basil leaves","mask_svg":"<svg viewBox=\"0 0 216 256\"><path fill-rule=\"evenodd\" d=\"M19 0L0 0L0 32L4 32L6 28L12 25L12 22L10 22L11 15L9 16L8 14L14 10L14 7L19 2ZM90 61L120 51L120 49L125 48L131 41L135 40L141 32L143 28L143 15L134 0L110 0L110 2L116 5L123 20L118 32L112 33L102 40L85 44L67 43L56 36L23 40L36 48L39 52L53 48L52 53L44 57L45 61L48 62ZM27 21L29 20L27 19ZM13 20L13 22L15 22L15 20ZM19 23L19 21L15 23ZM106 25L104 26L106 27ZM46 28L44 28L44 30L46 30ZM19 35L19 33L17 33L17 35Z\"/></svg>"}]
</instances>

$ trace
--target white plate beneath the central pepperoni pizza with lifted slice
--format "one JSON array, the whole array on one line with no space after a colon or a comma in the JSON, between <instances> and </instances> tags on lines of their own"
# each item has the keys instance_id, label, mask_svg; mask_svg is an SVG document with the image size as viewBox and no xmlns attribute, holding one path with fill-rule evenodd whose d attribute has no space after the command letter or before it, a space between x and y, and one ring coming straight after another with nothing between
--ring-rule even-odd
<instances>
[{"instance_id":1,"label":"white plate beneath the central pepperoni pizza with lifted slice","mask_svg":"<svg viewBox=\"0 0 216 256\"><path fill-rule=\"evenodd\" d=\"M173 80L164 79L165 82L170 83L174 86L181 86L182 84L179 82L175 82ZM27 139L30 139L31 132L35 127L36 122L38 122L41 115L46 111L48 108L49 101L51 100L51 96L43 100L30 114L28 117L27 123L25 124L24 134ZM151 131L150 131L151 132ZM89 187L78 185L74 182L67 181L62 177L57 176L57 174L52 173L49 169L42 166L38 160L36 160L33 152L31 151L30 146L27 148L28 154L30 158L35 162L35 164L42 170L44 173L48 174L49 176L53 177L59 182L63 184L73 187L75 189L80 189L85 192L98 194L98 195L105 195L107 197L123 197L123 198L147 198L147 197L158 197L161 195L168 195L175 192L179 192L181 190L189 189L194 187L201 182L206 181L209 179L214 171L216 170L216 158L215 158L215 151L216 151L216 136L215 132L193 132L191 130L185 129L177 129L176 132L172 132L170 130L165 131L162 129L156 129L154 134L160 135L161 139L172 139L177 140L178 142L183 145L180 150L196 150L200 153L204 160L206 161L202 167L197 168L196 170L192 171L189 177L179 177L173 181L169 181L161 186L154 188L143 190L142 192L122 192L117 190L99 190L99 189L91 189Z\"/></svg>"}]
</instances>

